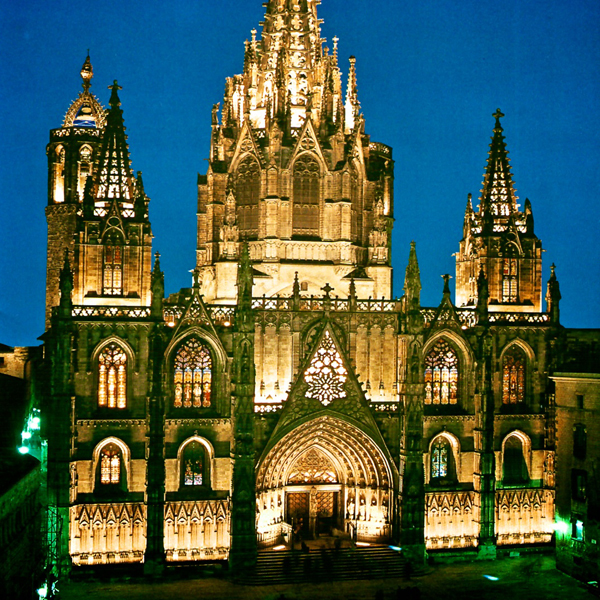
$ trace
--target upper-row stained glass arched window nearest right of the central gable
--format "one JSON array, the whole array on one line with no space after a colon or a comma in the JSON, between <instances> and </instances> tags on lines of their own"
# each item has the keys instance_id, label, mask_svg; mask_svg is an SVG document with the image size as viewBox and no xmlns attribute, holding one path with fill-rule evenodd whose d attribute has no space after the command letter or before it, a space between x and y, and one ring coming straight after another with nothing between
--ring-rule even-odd
<instances>
[{"instance_id":1,"label":"upper-row stained glass arched window nearest right of the central gable","mask_svg":"<svg viewBox=\"0 0 600 600\"><path fill-rule=\"evenodd\" d=\"M425 357L425 404L457 404L458 356L445 340L438 340Z\"/></svg>"}]
</instances>

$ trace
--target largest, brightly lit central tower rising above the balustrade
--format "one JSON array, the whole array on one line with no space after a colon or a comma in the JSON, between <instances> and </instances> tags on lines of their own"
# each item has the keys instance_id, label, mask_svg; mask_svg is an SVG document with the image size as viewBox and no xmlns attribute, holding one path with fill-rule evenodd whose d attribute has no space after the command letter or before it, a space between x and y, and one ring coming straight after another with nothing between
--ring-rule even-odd
<instances>
[{"instance_id":1,"label":"largest, brightly lit central tower rising above the balustrade","mask_svg":"<svg viewBox=\"0 0 600 600\"><path fill-rule=\"evenodd\" d=\"M207 174L198 181L197 267L207 301L234 302L248 242L255 294L391 297L392 149L360 112L356 59L345 95L338 38L324 47L317 0L270 0L243 73L213 108Z\"/></svg>"}]
</instances>

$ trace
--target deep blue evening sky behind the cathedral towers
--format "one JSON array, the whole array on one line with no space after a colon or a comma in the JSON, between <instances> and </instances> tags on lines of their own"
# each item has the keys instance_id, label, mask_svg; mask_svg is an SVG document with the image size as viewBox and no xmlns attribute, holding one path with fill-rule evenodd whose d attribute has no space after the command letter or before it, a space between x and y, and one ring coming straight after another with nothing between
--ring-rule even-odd
<instances>
[{"instance_id":1,"label":"deep blue evening sky behind the cathedral towers","mask_svg":"<svg viewBox=\"0 0 600 600\"><path fill-rule=\"evenodd\" d=\"M0 24L0 342L44 328L48 131L81 89L107 105L117 79L134 170L151 198L167 293L190 285L196 174L206 171L210 111L261 0L22 0ZM561 284L561 320L600 327L600 3L597 0L323 0L322 35L357 58L373 141L396 161L395 294L417 242L422 303L454 273L467 194L479 196L500 107L521 204L528 197Z\"/></svg>"}]
</instances>

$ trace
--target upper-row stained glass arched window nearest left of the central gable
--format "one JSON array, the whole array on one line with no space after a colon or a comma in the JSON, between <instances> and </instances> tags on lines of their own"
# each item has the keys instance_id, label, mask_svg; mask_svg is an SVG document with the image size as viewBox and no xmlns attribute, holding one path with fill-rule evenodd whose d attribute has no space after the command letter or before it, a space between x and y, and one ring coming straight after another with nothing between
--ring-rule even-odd
<instances>
[{"instance_id":1,"label":"upper-row stained glass arched window nearest left of the central gable","mask_svg":"<svg viewBox=\"0 0 600 600\"><path fill-rule=\"evenodd\" d=\"M186 340L174 364L175 407L207 408L211 405L212 358L198 338Z\"/></svg>"}]
</instances>

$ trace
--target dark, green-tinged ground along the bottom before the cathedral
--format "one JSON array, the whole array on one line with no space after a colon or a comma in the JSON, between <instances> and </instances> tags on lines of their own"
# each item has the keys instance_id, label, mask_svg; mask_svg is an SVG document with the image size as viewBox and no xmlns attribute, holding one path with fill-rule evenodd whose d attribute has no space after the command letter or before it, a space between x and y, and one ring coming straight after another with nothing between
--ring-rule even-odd
<instances>
[{"instance_id":1,"label":"dark, green-tinged ground along the bottom before the cathedral","mask_svg":"<svg viewBox=\"0 0 600 600\"><path fill-rule=\"evenodd\" d=\"M495 579L489 579L494 577ZM441 564L420 577L252 587L225 579L73 581L60 586L61 600L592 600L585 585L556 570L554 558L529 555L495 562ZM398 588L402 588L398 593ZM418 588L416 593L413 589Z\"/></svg>"}]
</instances>

